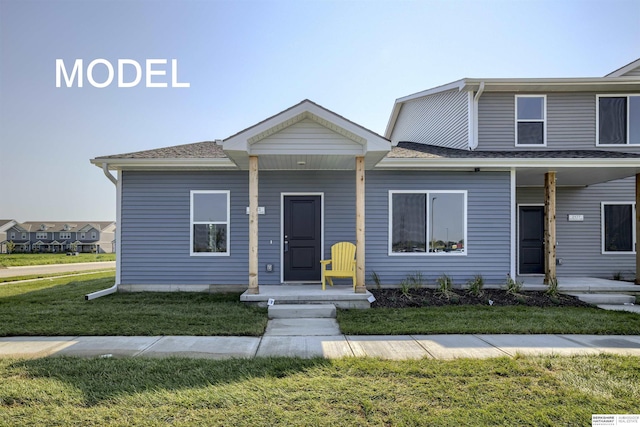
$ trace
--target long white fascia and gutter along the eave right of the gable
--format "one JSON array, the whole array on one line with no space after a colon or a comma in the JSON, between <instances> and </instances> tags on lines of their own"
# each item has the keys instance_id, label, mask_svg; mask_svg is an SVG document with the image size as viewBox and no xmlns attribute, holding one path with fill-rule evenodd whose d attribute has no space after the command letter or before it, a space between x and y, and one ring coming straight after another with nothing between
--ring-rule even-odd
<instances>
[{"instance_id":1,"label":"long white fascia and gutter along the eave right of the gable","mask_svg":"<svg viewBox=\"0 0 640 427\"><path fill-rule=\"evenodd\" d=\"M376 169L404 168L637 168L638 159L542 159L542 158L506 158L506 159L428 159L428 158L385 158L376 165Z\"/></svg>"}]
</instances>

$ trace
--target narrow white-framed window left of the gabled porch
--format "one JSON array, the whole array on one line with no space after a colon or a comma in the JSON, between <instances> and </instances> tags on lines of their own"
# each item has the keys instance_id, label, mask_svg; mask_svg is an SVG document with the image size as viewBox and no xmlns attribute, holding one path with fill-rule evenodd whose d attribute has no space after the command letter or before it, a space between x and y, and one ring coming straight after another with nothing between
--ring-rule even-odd
<instances>
[{"instance_id":1,"label":"narrow white-framed window left of the gabled porch","mask_svg":"<svg viewBox=\"0 0 640 427\"><path fill-rule=\"evenodd\" d=\"M229 255L229 192L191 191L191 255Z\"/></svg>"}]
</instances>

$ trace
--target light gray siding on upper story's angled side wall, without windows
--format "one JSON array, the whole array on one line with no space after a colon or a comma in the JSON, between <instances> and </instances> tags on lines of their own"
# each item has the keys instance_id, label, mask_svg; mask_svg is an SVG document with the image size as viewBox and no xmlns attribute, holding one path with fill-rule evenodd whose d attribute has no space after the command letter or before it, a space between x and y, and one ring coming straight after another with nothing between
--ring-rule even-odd
<instances>
[{"instance_id":1,"label":"light gray siding on upper story's angled side wall, without windows","mask_svg":"<svg viewBox=\"0 0 640 427\"><path fill-rule=\"evenodd\" d=\"M399 141L468 148L468 92L450 90L404 103L391 135L393 144Z\"/></svg>"}]
</instances>

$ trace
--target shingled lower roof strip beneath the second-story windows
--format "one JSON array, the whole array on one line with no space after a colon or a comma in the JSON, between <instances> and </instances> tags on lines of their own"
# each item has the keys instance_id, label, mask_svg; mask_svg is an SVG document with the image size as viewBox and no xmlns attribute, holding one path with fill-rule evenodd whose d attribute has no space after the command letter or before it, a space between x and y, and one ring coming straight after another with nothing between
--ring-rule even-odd
<instances>
[{"instance_id":1,"label":"shingled lower roof strip beneath the second-story windows","mask_svg":"<svg viewBox=\"0 0 640 427\"><path fill-rule=\"evenodd\" d=\"M387 157L392 159L640 159L640 154L605 150L469 151L417 142L399 142Z\"/></svg>"}]
</instances>

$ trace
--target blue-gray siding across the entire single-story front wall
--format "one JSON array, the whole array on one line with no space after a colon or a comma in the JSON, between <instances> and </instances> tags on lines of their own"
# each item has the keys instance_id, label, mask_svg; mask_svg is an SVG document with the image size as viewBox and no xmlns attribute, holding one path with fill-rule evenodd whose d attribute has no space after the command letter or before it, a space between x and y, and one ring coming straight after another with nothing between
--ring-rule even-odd
<instances>
[{"instance_id":1,"label":"blue-gray siding across the entire single-story front wall","mask_svg":"<svg viewBox=\"0 0 640 427\"><path fill-rule=\"evenodd\" d=\"M247 172L125 172L122 190L121 283L246 285ZM467 190L466 256L389 256L389 190ZM190 190L231 192L230 255L190 256ZM260 284L279 284L282 193L323 193L324 258L331 245L355 242L355 172L264 171L259 174ZM503 172L366 173L366 275L397 284L421 271L463 283L474 274L502 282L509 271L509 174ZM274 271L266 272L266 264Z\"/></svg>"}]
</instances>

